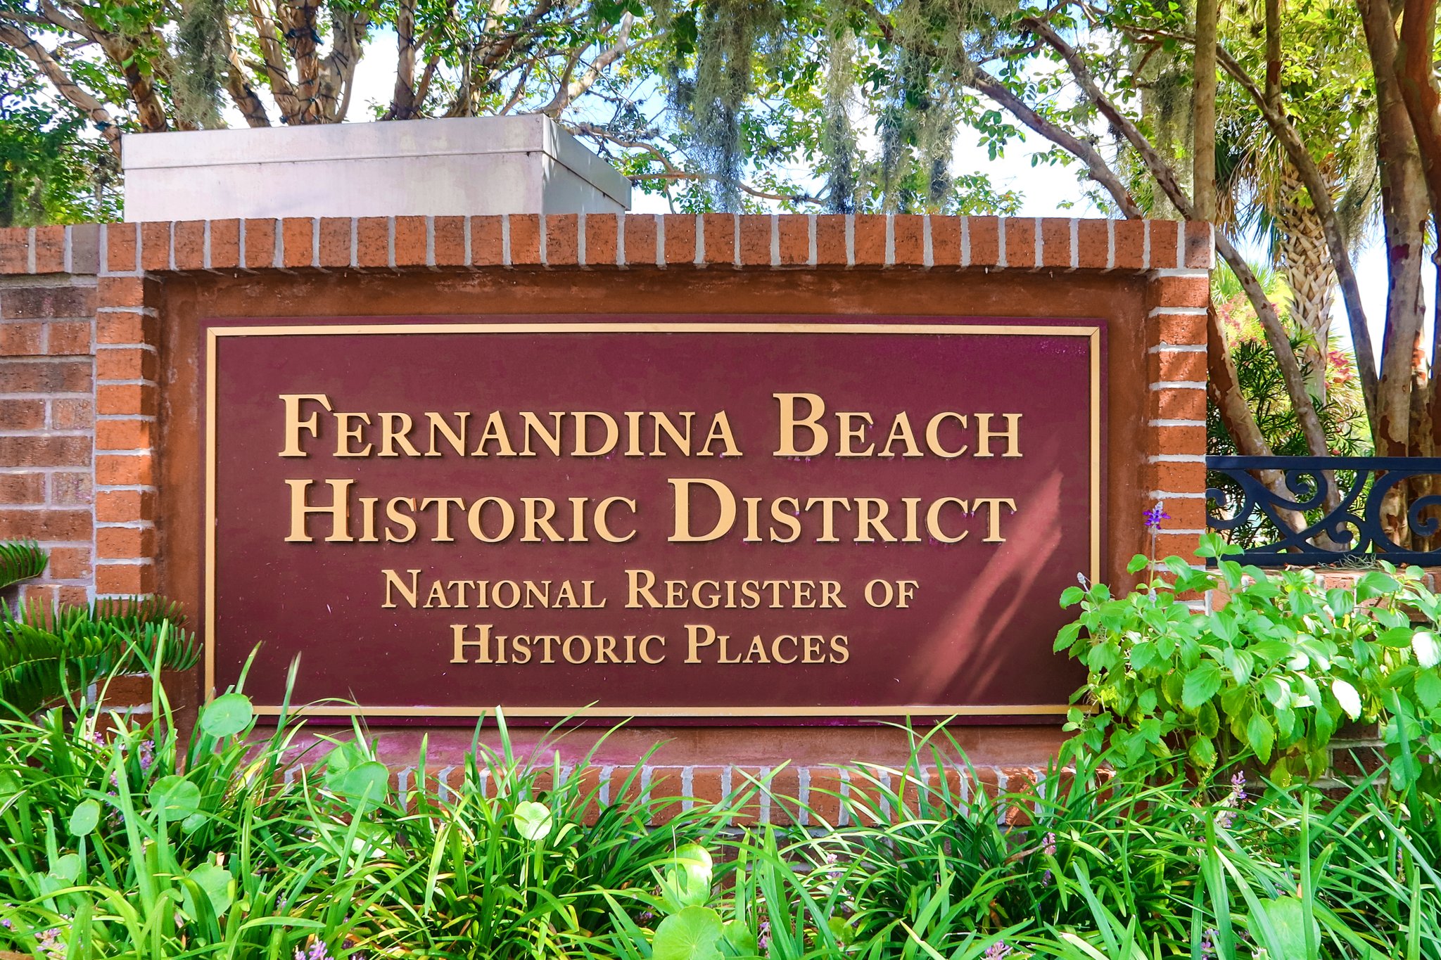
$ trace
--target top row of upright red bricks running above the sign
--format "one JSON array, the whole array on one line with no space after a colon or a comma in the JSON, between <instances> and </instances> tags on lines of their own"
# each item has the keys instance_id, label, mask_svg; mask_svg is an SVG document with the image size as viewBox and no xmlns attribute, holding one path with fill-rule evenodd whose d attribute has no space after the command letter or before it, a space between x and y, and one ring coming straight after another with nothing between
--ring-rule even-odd
<instances>
[{"instance_id":1,"label":"top row of upright red bricks running above the sign","mask_svg":"<svg viewBox=\"0 0 1441 960\"><path fill-rule=\"evenodd\" d=\"M0 229L0 275L440 268L1202 272L1209 223L929 214L285 217Z\"/></svg>"}]
</instances>

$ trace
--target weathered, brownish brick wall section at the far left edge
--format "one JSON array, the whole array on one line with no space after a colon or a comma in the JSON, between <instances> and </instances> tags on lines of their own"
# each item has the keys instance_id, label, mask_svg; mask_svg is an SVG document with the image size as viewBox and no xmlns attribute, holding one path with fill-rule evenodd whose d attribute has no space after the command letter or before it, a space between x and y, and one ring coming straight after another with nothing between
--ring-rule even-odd
<instances>
[{"instance_id":1,"label":"weathered, brownish brick wall section at the far left edge","mask_svg":"<svg viewBox=\"0 0 1441 960\"><path fill-rule=\"evenodd\" d=\"M0 230L0 540L35 540L32 603L91 599L94 226Z\"/></svg>"}]
</instances>

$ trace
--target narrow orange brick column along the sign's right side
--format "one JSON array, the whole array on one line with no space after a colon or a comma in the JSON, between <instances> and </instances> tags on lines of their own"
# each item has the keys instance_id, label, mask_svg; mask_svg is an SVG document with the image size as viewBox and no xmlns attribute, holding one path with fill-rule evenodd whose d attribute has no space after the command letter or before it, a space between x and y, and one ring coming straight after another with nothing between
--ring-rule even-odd
<instances>
[{"instance_id":1,"label":"narrow orange brick column along the sign's right side","mask_svg":"<svg viewBox=\"0 0 1441 960\"><path fill-rule=\"evenodd\" d=\"M1206 531L1206 305L1213 243L1205 223L1151 220L1147 227L1151 262L1159 262L1154 255L1164 242L1172 256L1179 252L1180 263L1148 273L1148 505L1164 504L1169 514L1156 553L1190 560Z\"/></svg>"}]
</instances>

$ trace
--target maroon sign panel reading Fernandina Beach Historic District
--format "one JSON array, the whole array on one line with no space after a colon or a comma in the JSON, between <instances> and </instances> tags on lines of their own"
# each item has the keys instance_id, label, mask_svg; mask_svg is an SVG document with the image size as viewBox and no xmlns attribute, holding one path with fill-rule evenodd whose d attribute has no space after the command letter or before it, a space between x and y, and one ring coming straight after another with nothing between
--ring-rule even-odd
<instances>
[{"instance_id":1,"label":"maroon sign panel reading Fernandina Beach Historic District","mask_svg":"<svg viewBox=\"0 0 1441 960\"><path fill-rule=\"evenodd\" d=\"M206 682L274 712L1055 718L1095 324L215 321ZM468 723L468 721L467 721Z\"/></svg>"}]
</instances>

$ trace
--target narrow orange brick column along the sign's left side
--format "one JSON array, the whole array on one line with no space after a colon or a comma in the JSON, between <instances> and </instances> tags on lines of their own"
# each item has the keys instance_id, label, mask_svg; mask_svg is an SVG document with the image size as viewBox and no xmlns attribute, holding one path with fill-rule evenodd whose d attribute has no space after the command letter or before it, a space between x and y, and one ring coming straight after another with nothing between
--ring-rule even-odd
<instances>
[{"instance_id":1,"label":"narrow orange brick column along the sign's left side","mask_svg":"<svg viewBox=\"0 0 1441 960\"><path fill-rule=\"evenodd\" d=\"M161 227L164 237L150 233ZM156 440L159 284L146 268L170 266L170 225L105 227L95 344L95 592L156 589ZM154 256L164 263L151 263Z\"/></svg>"}]
</instances>

